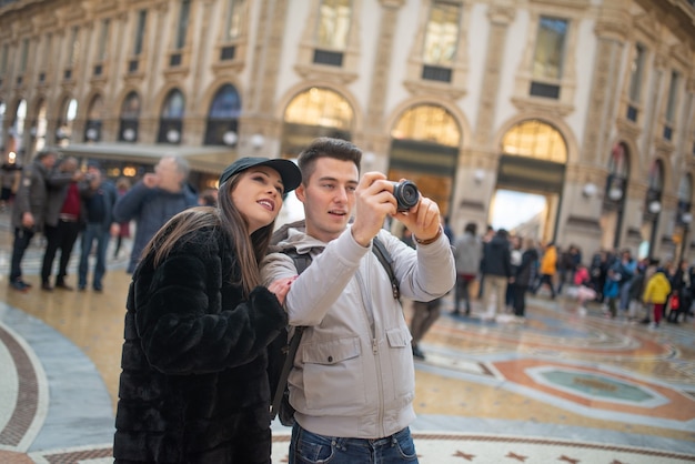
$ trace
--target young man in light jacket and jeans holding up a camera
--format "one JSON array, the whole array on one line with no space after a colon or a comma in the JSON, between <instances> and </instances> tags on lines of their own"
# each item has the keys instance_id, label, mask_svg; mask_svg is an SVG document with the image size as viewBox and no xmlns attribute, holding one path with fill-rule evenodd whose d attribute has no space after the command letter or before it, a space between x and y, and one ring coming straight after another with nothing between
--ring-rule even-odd
<instances>
[{"instance_id":1,"label":"young man in light jacket and jeans holding up a camera","mask_svg":"<svg viewBox=\"0 0 695 464\"><path fill-rule=\"evenodd\" d=\"M285 301L290 325L306 326L289 377L296 410L290 463L303 462L306 450L335 464L417 462L409 428L415 418L411 335L372 239L379 235L389 250L401 294L411 300L449 292L454 260L436 203L421 196L397 212L384 174L360 180L361 155L350 142L322 138L299 157L305 229L289 229L279 243L312 258ZM416 250L382 229L387 216L413 232ZM295 274L285 253L262 263L266 283Z\"/></svg>"}]
</instances>

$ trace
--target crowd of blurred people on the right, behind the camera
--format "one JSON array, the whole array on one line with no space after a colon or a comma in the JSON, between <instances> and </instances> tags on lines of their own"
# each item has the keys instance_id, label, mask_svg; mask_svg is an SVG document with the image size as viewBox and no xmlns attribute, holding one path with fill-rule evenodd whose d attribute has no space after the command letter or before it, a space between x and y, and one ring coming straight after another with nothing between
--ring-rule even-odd
<instances>
[{"instance_id":1,"label":"crowd of blurred people on the right, behind the camera","mask_svg":"<svg viewBox=\"0 0 695 464\"><path fill-rule=\"evenodd\" d=\"M560 249L554 242L537 244L533 239L510 235L506 230L487 226L476 235L475 223L467 223L453 241L456 286L453 315L471 315L471 286L479 286L482 319L494 321L512 313L525 316L526 294L547 291L551 299L566 295L576 300L580 314L587 303L597 303L611 319L657 327L665 317L678 324L693 315L695 266L686 261L644 258L637 260L627 249L600 251L588 265L576 245Z\"/></svg>"}]
</instances>

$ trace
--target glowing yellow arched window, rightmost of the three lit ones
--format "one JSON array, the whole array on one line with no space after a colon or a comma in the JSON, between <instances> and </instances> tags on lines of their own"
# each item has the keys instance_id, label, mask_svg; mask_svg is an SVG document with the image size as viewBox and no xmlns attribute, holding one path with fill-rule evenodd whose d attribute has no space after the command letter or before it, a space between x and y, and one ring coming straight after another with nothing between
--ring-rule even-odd
<instances>
[{"instance_id":1,"label":"glowing yellow arched window, rightmost of the three lit ones","mask_svg":"<svg viewBox=\"0 0 695 464\"><path fill-rule=\"evenodd\" d=\"M502 140L502 150L504 154L567 162L567 145L560 131L538 120L523 121L510 129Z\"/></svg>"}]
</instances>

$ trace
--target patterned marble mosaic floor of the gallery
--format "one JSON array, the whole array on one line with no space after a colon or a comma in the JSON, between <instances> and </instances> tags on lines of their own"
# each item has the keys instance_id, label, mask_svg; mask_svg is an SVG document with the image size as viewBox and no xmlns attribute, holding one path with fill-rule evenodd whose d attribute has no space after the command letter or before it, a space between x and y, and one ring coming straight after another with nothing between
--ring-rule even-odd
<instances>
[{"instance_id":1,"label":"patterned marble mosaic floor of the gallery","mask_svg":"<svg viewBox=\"0 0 695 464\"><path fill-rule=\"evenodd\" d=\"M103 293L47 293L37 243L24 261L34 288L16 292L4 215L0 463L111 462L125 259L112 261ZM524 324L491 323L477 302L463 317L445 300L416 362L421 463L695 462L693 321L651 331L597 306L582 316L563 299L530 305ZM273 434L273 462L286 462L289 430Z\"/></svg>"}]
</instances>

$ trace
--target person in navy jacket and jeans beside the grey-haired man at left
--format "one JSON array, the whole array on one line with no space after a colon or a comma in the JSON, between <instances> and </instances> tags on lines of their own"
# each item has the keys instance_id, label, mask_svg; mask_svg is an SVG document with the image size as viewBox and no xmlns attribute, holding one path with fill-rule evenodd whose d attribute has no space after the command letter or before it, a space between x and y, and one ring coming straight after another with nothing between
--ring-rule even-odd
<instances>
[{"instance_id":1,"label":"person in navy jacket and jeans beside the grey-haired man at left","mask_svg":"<svg viewBox=\"0 0 695 464\"><path fill-rule=\"evenodd\" d=\"M83 181L82 202L84 204L84 222L80 248L80 264L78 266L78 290L87 289L89 271L89 255L92 246L97 245L92 289L95 292L103 290L103 276L107 273L107 248L111 235L119 233L119 225L113 220L113 206L118 200L115 185L104 178L97 161L87 165L87 175Z\"/></svg>"}]
</instances>

